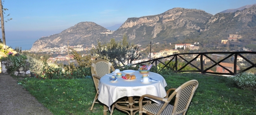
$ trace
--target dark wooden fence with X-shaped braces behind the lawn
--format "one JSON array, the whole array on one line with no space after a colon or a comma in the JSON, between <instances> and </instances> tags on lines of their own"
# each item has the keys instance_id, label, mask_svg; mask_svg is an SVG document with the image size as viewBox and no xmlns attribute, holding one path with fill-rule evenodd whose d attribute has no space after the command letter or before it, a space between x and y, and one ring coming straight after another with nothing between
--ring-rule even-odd
<instances>
[{"instance_id":1,"label":"dark wooden fence with X-shaped braces behind the lawn","mask_svg":"<svg viewBox=\"0 0 256 115\"><path fill-rule=\"evenodd\" d=\"M172 68L176 73L201 72L233 76L244 71L256 73L256 52L247 51L180 53L136 64L147 62L160 67L161 70L166 67Z\"/></svg>"}]
</instances>

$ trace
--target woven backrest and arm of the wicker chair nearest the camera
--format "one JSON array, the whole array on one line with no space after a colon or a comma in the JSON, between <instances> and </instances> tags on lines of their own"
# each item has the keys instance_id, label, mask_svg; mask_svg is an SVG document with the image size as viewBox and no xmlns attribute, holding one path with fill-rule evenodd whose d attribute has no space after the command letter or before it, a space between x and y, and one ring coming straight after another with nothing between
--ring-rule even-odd
<instances>
[{"instance_id":1,"label":"woven backrest and arm of the wicker chair nearest the camera","mask_svg":"<svg viewBox=\"0 0 256 115\"><path fill-rule=\"evenodd\" d=\"M171 115L178 115L180 113L183 113L183 115L186 114L187 108L190 105L190 101L194 95L195 90L198 87L198 81L197 80L189 80L183 85L180 85L166 100L164 103L164 106L162 106L161 111L166 108L167 104L171 101L174 95L175 102L173 105L173 111ZM159 113L161 113L159 111Z\"/></svg>"}]
</instances>

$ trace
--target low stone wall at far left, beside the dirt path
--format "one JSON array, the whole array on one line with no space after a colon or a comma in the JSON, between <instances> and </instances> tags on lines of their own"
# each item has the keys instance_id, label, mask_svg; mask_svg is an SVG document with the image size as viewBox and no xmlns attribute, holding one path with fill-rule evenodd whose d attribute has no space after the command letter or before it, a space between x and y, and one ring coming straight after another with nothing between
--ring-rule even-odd
<instances>
[{"instance_id":1,"label":"low stone wall at far left, beside the dirt path","mask_svg":"<svg viewBox=\"0 0 256 115\"><path fill-rule=\"evenodd\" d=\"M9 61L9 60L3 60L0 62L0 68L2 71L0 71L0 73L3 73L3 74L9 74L9 75L12 75L14 74L15 76L31 76L30 74L30 70L29 70L29 65L30 63L28 62L28 60L26 60L26 66L24 67L19 67L16 71L14 71L13 73L7 73L7 68L9 66L12 66L12 62Z\"/></svg>"}]
</instances>

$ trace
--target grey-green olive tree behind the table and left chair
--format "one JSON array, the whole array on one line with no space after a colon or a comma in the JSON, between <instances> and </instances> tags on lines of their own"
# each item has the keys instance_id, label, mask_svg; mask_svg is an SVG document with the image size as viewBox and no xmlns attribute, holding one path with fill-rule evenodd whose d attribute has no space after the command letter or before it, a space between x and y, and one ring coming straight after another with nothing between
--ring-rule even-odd
<instances>
[{"instance_id":1,"label":"grey-green olive tree behind the table and left chair","mask_svg":"<svg viewBox=\"0 0 256 115\"><path fill-rule=\"evenodd\" d=\"M105 60L109 60L114 66L120 66L124 63L131 63L133 60L136 60L140 57L140 53L138 53L138 48L135 44L130 44L127 39L127 35L123 35L123 40L120 42L115 41L115 39L111 39L109 43L101 44L98 41L98 46L92 48L92 55L100 57Z\"/></svg>"}]
</instances>

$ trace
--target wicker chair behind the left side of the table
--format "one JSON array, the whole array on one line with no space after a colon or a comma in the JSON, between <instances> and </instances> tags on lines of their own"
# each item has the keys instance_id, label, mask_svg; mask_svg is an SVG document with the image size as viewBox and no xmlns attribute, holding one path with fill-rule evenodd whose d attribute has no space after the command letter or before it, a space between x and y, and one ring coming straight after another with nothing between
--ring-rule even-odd
<instances>
[{"instance_id":1,"label":"wicker chair behind the left side of the table","mask_svg":"<svg viewBox=\"0 0 256 115\"><path fill-rule=\"evenodd\" d=\"M107 60L98 59L98 60L95 60L94 62L92 62L92 67L91 67L92 78L93 78L97 93L93 100L91 110L94 106L94 103L99 103L96 100L98 99L98 95L99 95L98 86L99 86L100 78L102 76L104 76L105 74L111 73L111 69L112 69L112 71L115 71L115 68L113 67L113 65L110 62L108 62Z\"/></svg>"}]
</instances>

